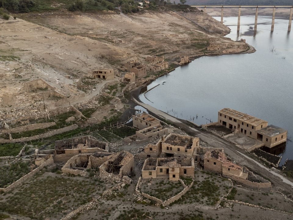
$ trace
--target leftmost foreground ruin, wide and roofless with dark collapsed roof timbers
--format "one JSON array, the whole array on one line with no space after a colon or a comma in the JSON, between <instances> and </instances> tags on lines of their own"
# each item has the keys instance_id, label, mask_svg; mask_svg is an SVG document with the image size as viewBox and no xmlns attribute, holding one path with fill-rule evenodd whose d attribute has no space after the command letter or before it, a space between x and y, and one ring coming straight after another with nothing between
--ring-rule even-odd
<instances>
[{"instance_id":1,"label":"leftmost foreground ruin, wide and roofless with dark collapsed roof timbers","mask_svg":"<svg viewBox=\"0 0 293 220\"><path fill-rule=\"evenodd\" d=\"M91 136L55 141L54 162L66 162L74 155L95 152L108 152L108 144Z\"/></svg>"}]
</instances>

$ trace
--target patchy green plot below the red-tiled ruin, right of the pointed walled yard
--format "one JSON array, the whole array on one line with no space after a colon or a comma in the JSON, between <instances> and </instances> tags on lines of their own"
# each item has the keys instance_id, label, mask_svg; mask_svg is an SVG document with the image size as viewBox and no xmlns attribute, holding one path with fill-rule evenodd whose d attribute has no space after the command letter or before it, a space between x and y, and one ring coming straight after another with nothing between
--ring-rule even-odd
<instances>
[{"instance_id":1,"label":"patchy green plot below the red-tiled ruin, right of the pointed walled yard","mask_svg":"<svg viewBox=\"0 0 293 220\"><path fill-rule=\"evenodd\" d=\"M220 200L221 196L228 194L232 188L231 181L219 177L217 174L196 171L194 178L194 185L174 203L200 203L213 206ZM189 185L190 180L183 179L183 181Z\"/></svg>"}]
</instances>

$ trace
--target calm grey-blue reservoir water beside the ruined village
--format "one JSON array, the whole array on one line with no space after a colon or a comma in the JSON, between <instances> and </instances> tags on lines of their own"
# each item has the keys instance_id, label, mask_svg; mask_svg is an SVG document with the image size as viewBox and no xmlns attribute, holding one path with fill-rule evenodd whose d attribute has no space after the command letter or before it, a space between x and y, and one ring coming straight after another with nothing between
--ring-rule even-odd
<instances>
[{"instance_id":1,"label":"calm grey-blue reservoir water beside the ruined village","mask_svg":"<svg viewBox=\"0 0 293 220\"><path fill-rule=\"evenodd\" d=\"M231 29L226 37L246 39L255 53L198 58L156 79L148 89L160 85L145 94L147 99L139 98L199 125L216 122L220 109L233 108L282 127L289 139L280 153L282 165L293 159L293 31L287 31L288 19L276 18L271 32L271 17L258 16L254 34L254 19L241 16L238 34L237 17L224 17L224 24Z\"/></svg>"}]
</instances>

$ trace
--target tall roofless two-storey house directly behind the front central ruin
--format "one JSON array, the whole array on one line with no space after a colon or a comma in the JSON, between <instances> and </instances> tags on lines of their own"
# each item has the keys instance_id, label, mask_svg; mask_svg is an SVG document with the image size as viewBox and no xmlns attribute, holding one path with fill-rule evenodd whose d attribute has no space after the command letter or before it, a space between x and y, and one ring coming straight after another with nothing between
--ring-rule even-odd
<instances>
[{"instance_id":1,"label":"tall roofless two-storey house directly behind the front central ruin","mask_svg":"<svg viewBox=\"0 0 293 220\"><path fill-rule=\"evenodd\" d=\"M162 156L194 158L194 149L199 146L199 138L171 133L163 137L161 146Z\"/></svg>"}]
</instances>

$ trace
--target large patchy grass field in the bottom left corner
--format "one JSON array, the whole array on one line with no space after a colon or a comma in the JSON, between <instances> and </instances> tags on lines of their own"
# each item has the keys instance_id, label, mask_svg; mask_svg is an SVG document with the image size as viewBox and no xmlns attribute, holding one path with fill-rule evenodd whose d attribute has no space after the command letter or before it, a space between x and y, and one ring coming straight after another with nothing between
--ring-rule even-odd
<instances>
[{"instance_id":1,"label":"large patchy grass field in the bottom left corner","mask_svg":"<svg viewBox=\"0 0 293 220\"><path fill-rule=\"evenodd\" d=\"M33 219L60 219L106 189L98 178L42 172L0 199L0 211Z\"/></svg>"}]
</instances>

